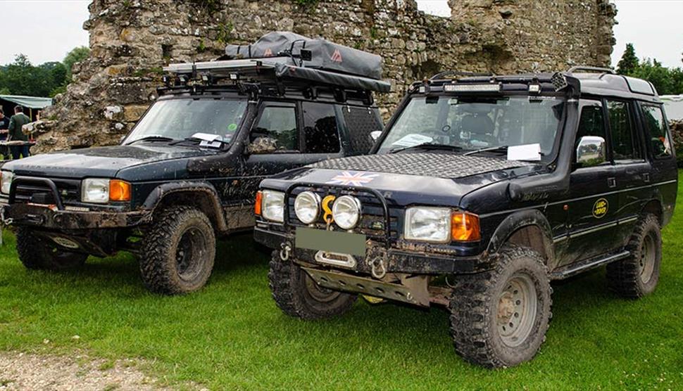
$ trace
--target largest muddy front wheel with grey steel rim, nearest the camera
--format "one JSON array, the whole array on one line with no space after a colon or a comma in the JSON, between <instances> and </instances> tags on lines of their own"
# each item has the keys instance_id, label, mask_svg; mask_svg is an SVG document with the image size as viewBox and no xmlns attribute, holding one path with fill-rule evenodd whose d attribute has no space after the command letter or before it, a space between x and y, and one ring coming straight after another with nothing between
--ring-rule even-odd
<instances>
[{"instance_id":1,"label":"largest muddy front wheel with grey steel rim, nearest the camera","mask_svg":"<svg viewBox=\"0 0 683 391\"><path fill-rule=\"evenodd\" d=\"M458 276L450 302L456 352L487 368L532 359L545 340L552 316L552 288L538 252L506 245L495 262L491 271ZM520 297L527 298L522 302Z\"/></svg>"}]
</instances>

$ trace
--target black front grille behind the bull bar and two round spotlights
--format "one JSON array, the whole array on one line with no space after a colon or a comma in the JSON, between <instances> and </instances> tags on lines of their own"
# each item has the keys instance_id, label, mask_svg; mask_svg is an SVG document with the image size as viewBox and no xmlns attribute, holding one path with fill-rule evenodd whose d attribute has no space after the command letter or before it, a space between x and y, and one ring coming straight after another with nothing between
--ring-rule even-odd
<instances>
[{"instance_id":1,"label":"black front grille behind the bull bar and two round spotlights","mask_svg":"<svg viewBox=\"0 0 683 391\"><path fill-rule=\"evenodd\" d=\"M301 188L295 188L294 191L292 191L292 194L289 196L287 205L289 210L289 225L307 226L296 218L296 212L294 212L294 200L296 199L296 196L303 191L313 191L313 193L317 193L318 196L320 196L320 199L325 198L325 196L330 194L337 197L348 194L358 198L358 200L361 201L361 221L358 222L358 226L353 229L353 232L363 233L364 235L376 241L384 241L386 236L386 219L384 218L382 201L377 199L377 197L371 193L365 193L363 191L337 191L337 189L310 188L303 186ZM399 238L399 232L401 232L401 226L399 222L401 221L400 217L402 214L402 208L391 207L391 205L389 205L389 231L392 240ZM325 229L327 227L327 224L325 224L325 222L322 220L322 213L318 218L318 222L315 222L313 226L318 229ZM332 223L332 229L334 229L334 231L344 231L334 223Z\"/></svg>"}]
</instances>

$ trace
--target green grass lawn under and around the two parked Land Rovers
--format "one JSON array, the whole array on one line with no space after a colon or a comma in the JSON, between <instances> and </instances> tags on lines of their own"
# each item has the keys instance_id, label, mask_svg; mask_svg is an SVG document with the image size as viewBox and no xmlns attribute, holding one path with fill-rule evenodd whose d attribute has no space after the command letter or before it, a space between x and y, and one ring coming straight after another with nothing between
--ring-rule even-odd
<instances>
[{"instance_id":1,"label":"green grass lawn under and around the two parked Land Rovers","mask_svg":"<svg viewBox=\"0 0 683 391\"><path fill-rule=\"evenodd\" d=\"M201 292L160 297L144 289L130 255L77 271L27 271L6 232L0 350L140 358L151 376L211 389L680 390L682 232L679 212L664 231L658 289L642 300L608 293L603 269L554 284L541 352L497 371L456 356L440 308L361 300L340 319L284 316L270 298L268 257L250 236L220 245Z\"/></svg>"}]
</instances>

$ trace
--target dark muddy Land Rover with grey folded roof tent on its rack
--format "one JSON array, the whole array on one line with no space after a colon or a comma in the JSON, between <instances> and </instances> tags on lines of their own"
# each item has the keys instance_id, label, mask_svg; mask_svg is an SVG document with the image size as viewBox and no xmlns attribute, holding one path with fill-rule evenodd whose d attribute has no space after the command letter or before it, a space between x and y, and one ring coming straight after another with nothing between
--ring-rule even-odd
<instances>
[{"instance_id":1,"label":"dark muddy Land Rover with grey folded roof tent on its rack","mask_svg":"<svg viewBox=\"0 0 683 391\"><path fill-rule=\"evenodd\" d=\"M128 250L139 257L150 290L188 293L211 275L216 236L253 226L253 197L263 178L368 153L372 132L382 131L372 92L390 85L308 68L327 54L300 53L312 45L296 34L268 37L265 49L249 46L253 56L270 51L258 60L171 65L159 98L120 146L4 165L2 219L18 227L25 267L75 267L88 255ZM322 44L347 57L351 51L381 60Z\"/></svg>"}]
</instances>

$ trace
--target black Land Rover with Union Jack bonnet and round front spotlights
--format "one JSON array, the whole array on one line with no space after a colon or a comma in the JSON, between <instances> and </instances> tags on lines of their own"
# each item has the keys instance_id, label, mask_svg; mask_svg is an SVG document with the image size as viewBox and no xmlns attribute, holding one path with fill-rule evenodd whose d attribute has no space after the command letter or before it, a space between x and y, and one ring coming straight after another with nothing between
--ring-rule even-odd
<instances>
[{"instance_id":1,"label":"black Land Rover with Union Jack bonnet and round front spotlights","mask_svg":"<svg viewBox=\"0 0 683 391\"><path fill-rule=\"evenodd\" d=\"M551 281L606 265L619 295L655 290L675 153L644 80L457 76L413 84L374 154L261 182L255 236L286 314L443 305L458 354L514 366L544 341Z\"/></svg>"}]
</instances>

